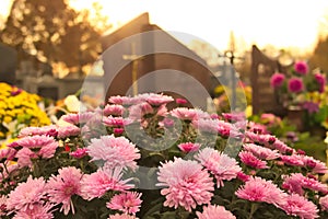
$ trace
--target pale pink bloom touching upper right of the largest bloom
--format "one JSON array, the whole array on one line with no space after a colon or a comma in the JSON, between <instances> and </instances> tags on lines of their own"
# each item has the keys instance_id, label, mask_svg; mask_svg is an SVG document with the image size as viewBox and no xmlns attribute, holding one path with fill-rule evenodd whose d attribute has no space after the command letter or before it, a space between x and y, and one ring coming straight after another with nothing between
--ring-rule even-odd
<instances>
[{"instance_id":1,"label":"pale pink bloom touching upper right of the largest bloom","mask_svg":"<svg viewBox=\"0 0 328 219\"><path fill-rule=\"evenodd\" d=\"M223 181L231 181L237 177L242 168L234 158L219 152L212 148L204 148L195 157L216 178L216 186L223 186Z\"/></svg>"}]
</instances>

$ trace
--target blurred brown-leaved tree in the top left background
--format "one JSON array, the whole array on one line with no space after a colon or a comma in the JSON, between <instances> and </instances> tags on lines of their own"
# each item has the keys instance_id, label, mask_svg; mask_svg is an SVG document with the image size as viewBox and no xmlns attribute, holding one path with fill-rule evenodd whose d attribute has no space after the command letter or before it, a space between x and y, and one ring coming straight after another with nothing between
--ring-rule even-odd
<instances>
[{"instance_id":1,"label":"blurred brown-leaved tree in the top left background","mask_svg":"<svg viewBox=\"0 0 328 219\"><path fill-rule=\"evenodd\" d=\"M101 8L94 4L93 10ZM71 71L93 64L101 53L103 28L90 22L90 12L77 12L67 0L15 0L5 27L0 33L3 43L14 47L19 61L31 55L42 62L65 66ZM104 18L95 18L104 23Z\"/></svg>"}]
</instances>

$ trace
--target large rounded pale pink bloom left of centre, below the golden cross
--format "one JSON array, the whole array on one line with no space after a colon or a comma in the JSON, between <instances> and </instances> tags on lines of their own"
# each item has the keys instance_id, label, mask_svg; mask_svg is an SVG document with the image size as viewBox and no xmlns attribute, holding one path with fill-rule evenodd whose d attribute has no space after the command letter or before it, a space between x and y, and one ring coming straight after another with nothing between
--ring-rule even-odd
<instances>
[{"instance_id":1,"label":"large rounded pale pink bloom left of centre, below the golden cross","mask_svg":"<svg viewBox=\"0 0 328 219\"><path fill-rule=\"evenodd\" d=\"M92 161L103 160L107 168L120 166L124 169L137 169L134 160L140 159L139 149L125 137L102 136L101 139L92 139L87 147Z\"/></svg>"}]
</instances>

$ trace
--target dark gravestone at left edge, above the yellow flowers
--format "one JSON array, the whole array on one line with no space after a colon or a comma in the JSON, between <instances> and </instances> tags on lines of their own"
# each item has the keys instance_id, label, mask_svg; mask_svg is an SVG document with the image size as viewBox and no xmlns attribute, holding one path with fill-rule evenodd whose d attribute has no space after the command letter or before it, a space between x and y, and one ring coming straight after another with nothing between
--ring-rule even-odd
<instances>
[{"instance_id":1,"label":"dark gravestone at left edge, above the yellow flowers","mask_svg":"<svg viewBox=\"0 0 328 219\"><path fill-rule=\"evenodd\" d=\"M15 83L16 62L15 49L0 43L0 82Z\"/></svg>"}]
</instances>

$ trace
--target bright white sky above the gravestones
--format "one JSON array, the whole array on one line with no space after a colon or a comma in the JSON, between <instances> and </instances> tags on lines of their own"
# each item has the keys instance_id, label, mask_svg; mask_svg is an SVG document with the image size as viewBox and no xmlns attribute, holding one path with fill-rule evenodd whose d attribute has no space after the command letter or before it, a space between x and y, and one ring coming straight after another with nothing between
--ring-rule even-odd
<instances>
[{"instance_id":1,"label":"bright white sky above the gravestones","mask_svg":"<svg viewBox=\"0 0 328 219\"><path fill-rule=\"evenodd\" d=\"M5 13L11 0L1 0ZM71 0L77 8L91 8L93 0ZM148 11L151 22L165 31L197 36L219 50L226 49L230 32L236 41L259 47L311 48L318 23L328 13L328 0L97 0L115 25ZM328 27L327 27L328 28Z\"/></svg>"}]
</instances>

